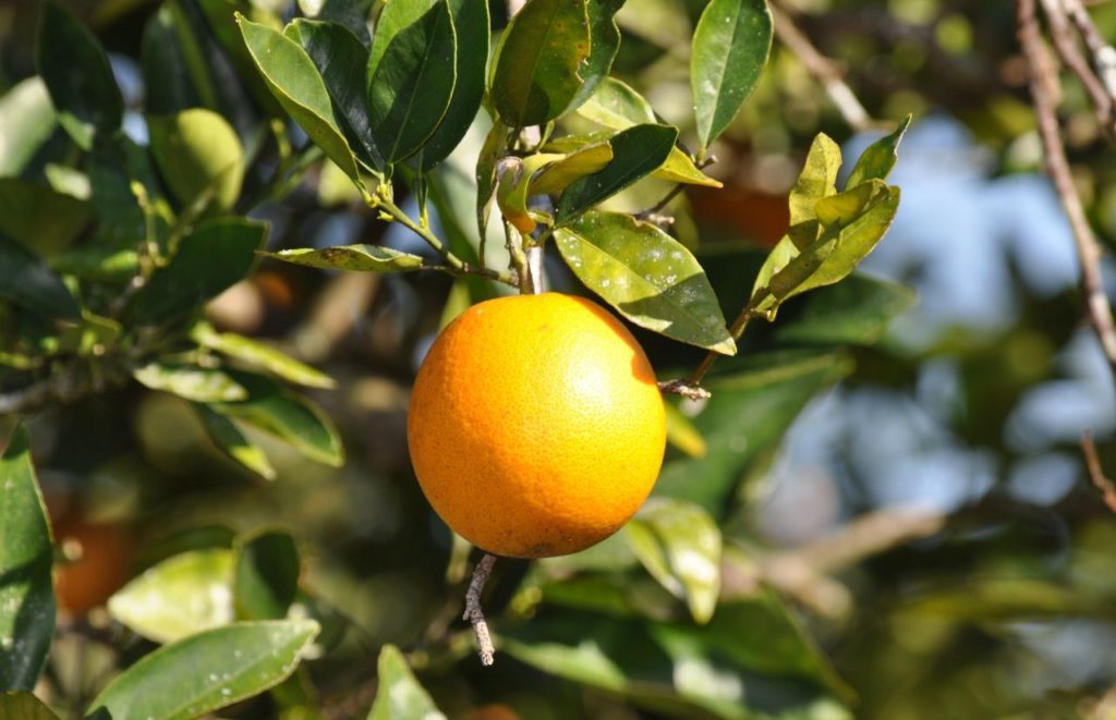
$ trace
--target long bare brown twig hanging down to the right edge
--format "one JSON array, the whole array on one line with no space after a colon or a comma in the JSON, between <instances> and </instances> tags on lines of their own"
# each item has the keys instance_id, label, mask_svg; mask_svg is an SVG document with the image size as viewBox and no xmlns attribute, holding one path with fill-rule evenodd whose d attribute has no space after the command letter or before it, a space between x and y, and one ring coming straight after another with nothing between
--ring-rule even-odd
<instances>
[{"instance_id":1,"label":"long bare brown twig hanging down to the right edge","mask_svg":"<svg viewBox=\"0 0 1116 720\"><path fill-rule=\"evenodd\" d=\"M1085 295L1086 313L1100 339L1108 363L1116 372L1116 328L1113 325L1112 307L1108 304L1100 279L1100 244L1089 226L1081 197L1074 185L1074 176L1066 159L1066 147L1062 145L1058 127L1055 101L1049 94L1049 87L1057 82L1057 78L1050 77L1052 69L1045 62L1046 43L1039 33L1035 0L1018 0L1017 10L1019 42L1031 71L1031 98L1046 154L1047 172L1054 181L1074 233L1077 255L1081 262L1081 292Z\"/></svg>"}]
</instances>

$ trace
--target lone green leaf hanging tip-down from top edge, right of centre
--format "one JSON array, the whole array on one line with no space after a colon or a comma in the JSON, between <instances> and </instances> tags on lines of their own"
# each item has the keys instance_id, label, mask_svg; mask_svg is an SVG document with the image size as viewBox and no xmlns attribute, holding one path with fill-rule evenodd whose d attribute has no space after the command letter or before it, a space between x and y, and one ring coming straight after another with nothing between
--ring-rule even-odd
<instances>
[{"instance_id":1,"label":"lone green leaf hanging tip-down from top edge, right of centre","mask_svg":"<svg viewBox=\"0 0 1116 720\"><path fill-rule=\"evenodd\" d=\"M698 137L708 148L740 111L771 51L766 0L711 0L694 30L690 85Z\"/></svg>"}]
</instances>

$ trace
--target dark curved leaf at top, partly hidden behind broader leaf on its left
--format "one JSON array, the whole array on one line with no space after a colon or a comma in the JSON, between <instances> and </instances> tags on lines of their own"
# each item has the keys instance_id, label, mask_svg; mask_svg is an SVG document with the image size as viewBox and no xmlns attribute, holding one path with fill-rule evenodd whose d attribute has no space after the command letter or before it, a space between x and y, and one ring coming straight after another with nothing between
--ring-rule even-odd
<instances>
[{"instance_id":1,"label":"dark curved leaf at top, partly hidden behind broader leaf on its left","mask_svg":"<svg viewBox=\"0 0 1116 720\"><path fill-rule=\"evenodd\" d=\"M484 96L488 68L489 8L485 0L450 0L453 28L458 37L456 82L445 116L416 155L421 172L429 172L445 159L469 132Z\"/></svg>"}]
</instances>

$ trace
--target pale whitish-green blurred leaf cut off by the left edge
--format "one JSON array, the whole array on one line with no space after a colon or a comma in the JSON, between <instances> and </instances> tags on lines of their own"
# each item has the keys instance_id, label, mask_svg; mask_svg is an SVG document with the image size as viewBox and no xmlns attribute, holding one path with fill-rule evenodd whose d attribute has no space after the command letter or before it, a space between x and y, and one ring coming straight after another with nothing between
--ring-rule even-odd
<instances>
[{"instance_id":1,"label":"pale whitish-green blurred leaf cut off by the left edge","mask_svg":"<svg viewBox=\"0 0 1116 720\"><path fill-rule=\"evenodd\" d=\"M40 76L0 97L0 176L19 175L55 132L57 119Z\"/></svg>"}]
</instances>

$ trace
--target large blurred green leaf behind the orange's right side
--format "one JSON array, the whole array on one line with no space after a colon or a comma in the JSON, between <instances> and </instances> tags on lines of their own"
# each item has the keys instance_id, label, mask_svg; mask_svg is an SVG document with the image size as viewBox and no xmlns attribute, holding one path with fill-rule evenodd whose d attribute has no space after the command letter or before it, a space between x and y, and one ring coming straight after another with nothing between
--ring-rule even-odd
<instances>
[{"instance_id":1,"label":"large blurred green leaf behind the orange's right side","mask_svg":"<svg viewBox=\"0 0 1116 720\"><path fill-rule=\"evenodd\" d=\"M703 383L713 397L692 421L708 451L666 463L654 489L696 503L714 517L723 514L749 465L782 439L806 403L852 370L843 356L817 351L753 354L737 364Z\"/></svg>"}]
</instances>

